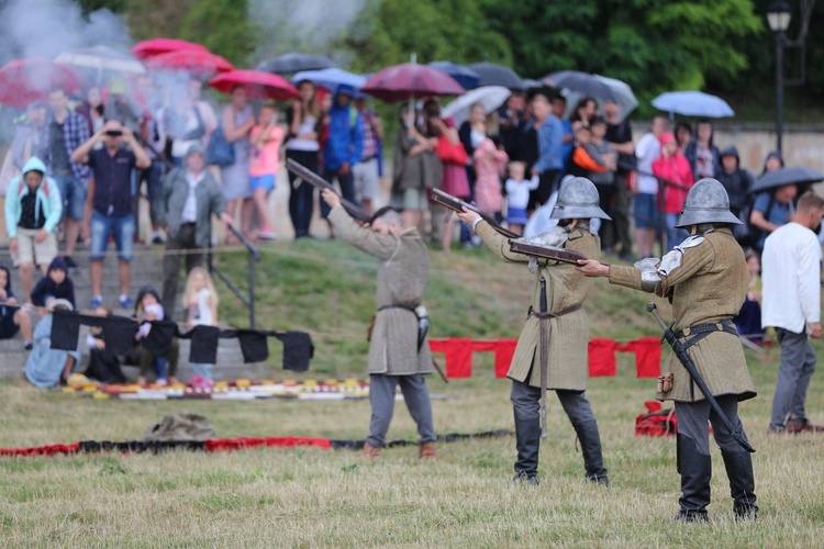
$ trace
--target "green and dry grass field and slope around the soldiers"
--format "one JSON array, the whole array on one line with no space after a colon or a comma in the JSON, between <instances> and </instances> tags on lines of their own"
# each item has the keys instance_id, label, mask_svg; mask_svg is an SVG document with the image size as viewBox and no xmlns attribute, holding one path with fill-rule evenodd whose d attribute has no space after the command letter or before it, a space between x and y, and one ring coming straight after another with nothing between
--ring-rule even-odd
<instances>
[{"instance_id":1,"label":"green and dry grass field and slope around the soldiers","mask_svg":"<svg viewBox=\"0 0 824 549\"><path fill-rule=\"evenodd\" d=\"M427 305L433 336L516 336L530 277L482 250L433 253ZM223 265L242 273L242 258ZM308 377L363 376L363 334L372 310L376 262L338 243L278 243L266 248L258 321L308 329L318 345ZM645 296L599 281L587 304L592 336L655 334ZM243 323L226 296L224 318ZM264 321L265 320L265 321ZM822 346L816 349L821 352ZM443 444L439 459L413 447L363 462L348 450L259 449L0 459L3 547L816 547L824 523L824 437L766 434L778 351L749 354L759 396L741 415L754 457L761 514L736 524L715 449L709 525L675 525L679 480L671 438L633 436L654 380L634 376L619 355L619 376L590 381L612 485L583 480L575 434L550 397L542 445L542 484L512 486L514 439ZM272 363L276 363L274 360ZM430 379L439 433L512 428L509 383L476 355L475 376ZM283 379L283 372L272 376ZM824 421L824 381L813 377L811 417ZM96 401L0 383L0 447L83 439L140 439L166 413L209 417L219 437L363 438L366 401ZM413 440L402 403L390 438Z\"/></svg>"}]
</instances>

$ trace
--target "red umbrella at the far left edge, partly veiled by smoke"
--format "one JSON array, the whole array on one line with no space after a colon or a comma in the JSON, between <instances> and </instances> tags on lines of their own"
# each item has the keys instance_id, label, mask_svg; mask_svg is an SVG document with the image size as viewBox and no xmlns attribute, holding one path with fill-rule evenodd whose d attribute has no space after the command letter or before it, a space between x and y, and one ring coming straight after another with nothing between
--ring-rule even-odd
<instances>
[{"instance_id":1,"label":"red umbrella at the far left edge, partly veiled by smoke","mask_svg":"<svg viewBox=\"0 0 824 549\"><path fill-rule=\"evenodd\" d=\"M32 101L44 101L55 86L71 93L80 87L80 79L71 67L45 57L13 59L0 68L0 103L23 109Z\"/></svg>"}]
</instances>

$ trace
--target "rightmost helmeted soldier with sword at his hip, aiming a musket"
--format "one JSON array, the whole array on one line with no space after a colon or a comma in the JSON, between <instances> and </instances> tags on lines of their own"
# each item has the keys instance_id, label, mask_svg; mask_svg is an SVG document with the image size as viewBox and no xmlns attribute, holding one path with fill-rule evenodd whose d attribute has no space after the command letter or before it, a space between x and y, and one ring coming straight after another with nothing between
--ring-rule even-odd
<instances>
[{"instance_id":1,"label":"rightmost helmeted soldier with sword at his hip, aiming a musket","mask_svg":"<svg viewBox=\"0 0 824 549\"><path fill-rule=\"evenodd\" d=\"M676 224L690 237L657 259L635 267L580 261L588 277L609 277L611 284L655 292L672 302L672 330L694 362L709 393L735 428L711 410L692 377L671 354L665 367L658 400L675 401L678 417L678 468L681 473L680 512L677 520L705 522L710 504L712 462L708 422L721 447L730 479L736 518L756 518L755 480L749 453L734 439L746 440L738 418L738 402L756 395L741 339L732 317L741 310L749 276L744 251L731 231L738 219L730 212L730 199L715 179L697 182L687 194ZM671 374L671 376L670 376Z\"/></svg>"}]
</instances>

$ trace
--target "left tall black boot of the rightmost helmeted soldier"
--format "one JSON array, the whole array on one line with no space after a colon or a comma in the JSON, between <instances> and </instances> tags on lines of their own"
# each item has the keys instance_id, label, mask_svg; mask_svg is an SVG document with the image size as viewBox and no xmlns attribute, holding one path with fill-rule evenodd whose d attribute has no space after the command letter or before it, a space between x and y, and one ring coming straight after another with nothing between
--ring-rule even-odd
<instances>
[{"instance_id":1,"label":"left tall black boot of the rightmost helmeted soldier","mask_svg":"<svg viewBox=\"0 0 824 549\"><path fill-rule=\"evenodd\" d=\"M681 506L676 520L684 523L705 523L706 506L710 505L710 480L712 479L712 459L699 453L695 441L678 435L678 461L681 472Z\"/></svg>"}]
</instances>

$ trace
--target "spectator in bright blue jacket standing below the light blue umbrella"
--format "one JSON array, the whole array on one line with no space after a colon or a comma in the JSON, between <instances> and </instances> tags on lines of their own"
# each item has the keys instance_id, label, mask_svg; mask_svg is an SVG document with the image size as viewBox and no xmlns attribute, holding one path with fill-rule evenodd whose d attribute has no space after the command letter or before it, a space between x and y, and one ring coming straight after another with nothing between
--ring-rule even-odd
<instances>
[{"instance_id":1,"label":"spectator in bright blue jacket standing below the light blue umbrella","mask_svg":"<svg viewBox=\"0 0 824 549\"><path fill-rule=\"evenodd\" d=\"M341 194L355 202L355 178L352 168L360 161L364 150L364 125L355 105L352 104L355 89L339 86L335 101L329 111L329 137L323 145L323 177L341 187ZM325 220L330 208L321 202L321 214ZM330 231L332 227L330 225Z\"/></svg>"}]
</instances>

